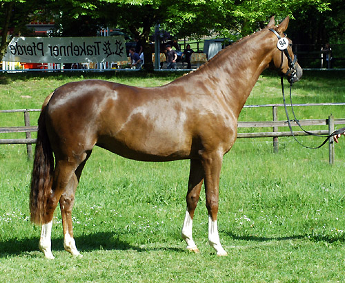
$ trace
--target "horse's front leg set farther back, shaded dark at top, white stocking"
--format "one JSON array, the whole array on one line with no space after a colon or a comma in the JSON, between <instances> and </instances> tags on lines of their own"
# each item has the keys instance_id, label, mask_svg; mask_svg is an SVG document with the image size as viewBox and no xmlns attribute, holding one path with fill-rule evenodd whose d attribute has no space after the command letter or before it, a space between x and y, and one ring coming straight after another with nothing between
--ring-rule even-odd
<instances>
[{"instance_id":1,"label":"horse's front leg set farther back, shaded dark at top, white stocking","mask_svg":"<svg viewBox=\"0 0 345 283\"><path fill-rule=\"evenodd\" d=\"M186 196L187 211L181 236L187 243L187 249L195 253L199 253L199 249L197 249L197 245L193 240L193 217L195 209L197 208L203 178L204 169L201 166L201 162L199 160L190 160L188 192Z\"/></svg>"}]
</instances>

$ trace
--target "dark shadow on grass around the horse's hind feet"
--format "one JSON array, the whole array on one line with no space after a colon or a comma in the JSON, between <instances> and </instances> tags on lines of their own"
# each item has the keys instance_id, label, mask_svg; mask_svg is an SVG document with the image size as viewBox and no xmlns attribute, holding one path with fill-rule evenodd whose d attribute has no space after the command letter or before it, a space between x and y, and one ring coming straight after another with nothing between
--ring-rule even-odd
<instances>
[{"instance_id":1,"label":"dark shadow on grass around the horse's hind feet","mask_svg":"<svg viewBox=\"0 0 345 283\"><path fill-rule=\"evenodd\" d=\"M185 251L185 249L170 247L139 247L128 242L119 240L116 233L99 232L90 235L81 235L75 238L78 251L81 253L87 251L99 250L134 250L138 252L144 251ZM63 251L63 238L52 239L52 252ZM20 255L22 253L39 251L39 238L24 238L22 240L11 239L0 242L0 258L6 258L8 255Z\"/></svg>"}]
</instances>

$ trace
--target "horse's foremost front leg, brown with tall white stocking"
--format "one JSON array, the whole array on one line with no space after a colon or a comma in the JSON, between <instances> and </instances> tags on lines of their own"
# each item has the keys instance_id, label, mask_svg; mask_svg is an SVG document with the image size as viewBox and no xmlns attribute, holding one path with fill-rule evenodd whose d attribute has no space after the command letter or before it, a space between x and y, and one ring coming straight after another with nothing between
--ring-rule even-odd
<instances>
[{"instance_id":1,"label":"horse's foremost front leg, brown with tall white stocking","mask_svg":"<svg viewBox=\"0 0 345 283\"><path fill-rule=\"evenodd\" d=\"M217 251L217 255L228 255L221 247L217 225L219 176L222 161L223 157L216 152L205 154L202 163L205 171L206 207L208 210L208 242Z\"/></svg>"}]
</instances>

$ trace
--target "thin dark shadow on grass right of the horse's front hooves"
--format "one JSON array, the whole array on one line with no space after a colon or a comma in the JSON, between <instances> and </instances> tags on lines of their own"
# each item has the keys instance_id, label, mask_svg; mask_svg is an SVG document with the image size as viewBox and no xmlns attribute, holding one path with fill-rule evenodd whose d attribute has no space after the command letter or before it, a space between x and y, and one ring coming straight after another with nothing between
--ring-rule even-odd
<instances>
[{"instance_id":1,"label":"thin dark shadow on grass right of the horse's front hooves","mask_svg":"<svg viewBox=\"0 0 345 283\"><path fill-rule=\"evenodd\" d=\"M286 237L259 237L255 235L235 235L232 232L224 232L230 238L234 240L244 240L244 241L253 241L253 242L269 242L269 241L284 241L284 240L298 240L306 239L311 242L345 242L343 235L291 235Z\"/></svg>"}]
</instances>

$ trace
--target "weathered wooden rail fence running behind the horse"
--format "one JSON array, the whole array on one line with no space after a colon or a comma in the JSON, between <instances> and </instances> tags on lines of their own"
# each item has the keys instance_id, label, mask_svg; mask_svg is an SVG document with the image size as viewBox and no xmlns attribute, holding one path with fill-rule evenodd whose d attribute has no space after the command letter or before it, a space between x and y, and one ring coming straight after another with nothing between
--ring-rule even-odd
<instances>
[{"instance_id":1,"label":"weathered wooden rail fence running behind the horse","mask_svg":"<svg viewBox=\"0 0 345 283\"><path fill-rule=\"evenodd\" d=\"M331 105L345 105L345 103L309 103L309 104L295 104L294 107L300 106L331 106ZM284 107L282 104L266 104L266 105L245 105L244 108L258 108L258 107L270 107L272 108L272 117L270 121L256 121L256 122L242 122L238 123L239 128L254 128L254 127L271 127L272 132L250 132L243 133L239 130L237 138L273 138L273 151L277 152L279 148L279 137L283 136L308 136L303 131L294 131L291 132L279 132L279 127L288 127L288 122L286 120L277 120L277 109L278 107ZM32 132L37 132L37 126L30 125L30 112L39 112L41 109L15 109L15 110L0 110L1 113L15 113L22 112L24 117L24 126L19 127L0 127L0 134L4 133L25 133L26 138L5 138L0 139L0 145L6 144L26 144L28 158L32 158L32 144L36 143L36 139L31 137ZM314 134L331 134L335 125L345 125L345 118L335 119L332 115L324 119L308 119L308 120L299 120L299 124L302 126L320 126L328 125L328 129L317 129L309 130L308 132L313 132ZM293 127L297 126L297 123L291 122ZM322 140L322 139L321 139ZM333 164L335 160L334 144L333 138L329 139L328 142L328 151L329 151L329 163Z\"/></svg>"}]
</instances>

